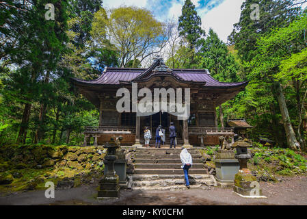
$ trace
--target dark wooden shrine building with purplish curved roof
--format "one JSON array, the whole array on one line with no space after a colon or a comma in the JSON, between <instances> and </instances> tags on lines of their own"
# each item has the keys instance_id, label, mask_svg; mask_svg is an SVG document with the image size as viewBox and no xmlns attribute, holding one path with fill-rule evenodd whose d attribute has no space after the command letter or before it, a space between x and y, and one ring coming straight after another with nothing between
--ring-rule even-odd
<instances>
[{"instance_id":1,"label":"dark wooden shrine building with purplish curved roof","mask_svg":"<svg viewBox=\"0 0 307 219\"><path fill-rule=\"evenodd\" d=\"M90 137L94 145L109 141L111 136L122 136L122 145L141 146L144 143L143 130L150 127L152 140L159 125L165 129L168 144L168 127L174 122L178 144L185 146L203 146L219 144L219 136L232 138L233 128L218 128L215 108L232 99L248 85L248 81L223 83L213 79L208 70L170 69L161 58L157 58L149 68L105 68L103 74L93 81L72 79L79 92L99 110L99 126L85 127L84 144ZM190 116L187 120L178 120L168 112L157 112L149 116L137 116L135 112L116 110L121 98L116 96L120 88L130 92L132 84L138 88L190 88ZM139 99L137 100L139 101ZM152 146L152 142L151 142Z\"/></svg>"}]
</instances>

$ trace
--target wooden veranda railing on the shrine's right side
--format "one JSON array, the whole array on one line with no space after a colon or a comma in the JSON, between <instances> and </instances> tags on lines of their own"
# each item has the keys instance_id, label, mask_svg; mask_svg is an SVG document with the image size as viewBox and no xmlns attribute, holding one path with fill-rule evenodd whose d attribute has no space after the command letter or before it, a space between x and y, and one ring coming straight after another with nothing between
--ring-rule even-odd
<instances>
[{"instance_id":1,"label":"wooden veranda railing on the shrine's right side","mask_svg":"<svg viewBox=\"0 0 307 219\"><path fill-rule=\"evenodd\" d=\"M188 130L189 130L189 134L194 134L194 135L206 135L206 136L229 135L229 136L233 136L235 134L234 128L189 127Z\"/></svg>"}]
</instances>

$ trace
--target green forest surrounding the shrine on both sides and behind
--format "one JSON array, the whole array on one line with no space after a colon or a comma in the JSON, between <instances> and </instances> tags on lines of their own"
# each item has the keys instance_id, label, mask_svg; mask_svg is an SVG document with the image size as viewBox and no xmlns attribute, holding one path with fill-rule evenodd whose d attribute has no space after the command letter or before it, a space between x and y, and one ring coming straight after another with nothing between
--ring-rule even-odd
<instances>
[{"instance_id":1,"label":"green forest surrounding the shrine on both sides and behind","mask_svg":"<svg viewBox=\"0 0 307 219\"><path fill-rule=\"evenodd\" d=\"M55 20L46 20L52 3ZM228 43L206 33L196 7L178 21L158 21L144 8L104 8L102 0L0 2L0 144L80 145L98 110L71 77L96 79L105 66L148 67L161 55L170 68L209 69L219 81L250 81L217 107L219 127L245 118L250 138L306 149L307 10L297 1L260 0L258 20L241 6Z\"/></svg>"}]
</instances>

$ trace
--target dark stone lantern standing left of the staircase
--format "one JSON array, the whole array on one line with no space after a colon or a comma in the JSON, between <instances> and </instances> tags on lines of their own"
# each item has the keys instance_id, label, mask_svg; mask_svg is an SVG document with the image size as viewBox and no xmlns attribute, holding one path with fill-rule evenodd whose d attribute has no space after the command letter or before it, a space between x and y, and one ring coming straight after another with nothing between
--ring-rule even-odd
<instances>
[{"instance_id":1,"label":"dark stone lantern standing left of the staircase","mask_svg":"<svg viewBox=\"0 0 307 219\"><path fill-rule=\"evenodd\" d=\"M107 142L104 147L107 148L105 162L107 162L108 165L107 172L105 172L103 179L100 181L100 189L97 198L119 198L119 177L116 175L114 170L114 162L117 159L116 149L118 149L118 144L110 144Z\"/></svg>"}]
</instances>

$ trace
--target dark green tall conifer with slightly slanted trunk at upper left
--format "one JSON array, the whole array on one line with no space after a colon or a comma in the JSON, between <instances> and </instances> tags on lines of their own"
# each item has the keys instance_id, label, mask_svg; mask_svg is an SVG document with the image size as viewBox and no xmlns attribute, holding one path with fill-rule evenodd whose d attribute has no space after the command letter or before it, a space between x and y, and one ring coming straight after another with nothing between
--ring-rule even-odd
<instances>
[{"instance_id":1,"label":"dark green tall conifer with slightly slanted trunk at upper left","mask_svg":"<svg viewBox=\"0 0 307 219\"><path fill-rule=\"evenodd\" d=\"M55 9L55 21L46 20L45 5L52 3ZM12 64L18 66L16 73L12 75L16 83L15 86L21 86L24 92L19 98L23 98L25 108L23 118L18 133L18 142L25 142L27 136L27 127L31 113L31 102L34 99L44 99L42 97L39 84L46 80L49 74L53 73L60 55L65 48L66 42L66 1L27 1L18 5L22 10L18 10L16 18L19 23L13 23L9 28L14 31L15 28L22 29L22 32L9 37L16 41L16 50L18 53L11 52L9 60ZM38 93L34 93L34 90ZM41 100L42 100L41 99Z\"/></svg>"}]
</instances>

